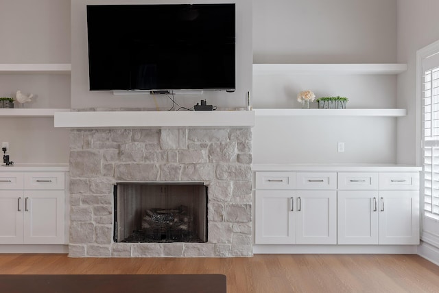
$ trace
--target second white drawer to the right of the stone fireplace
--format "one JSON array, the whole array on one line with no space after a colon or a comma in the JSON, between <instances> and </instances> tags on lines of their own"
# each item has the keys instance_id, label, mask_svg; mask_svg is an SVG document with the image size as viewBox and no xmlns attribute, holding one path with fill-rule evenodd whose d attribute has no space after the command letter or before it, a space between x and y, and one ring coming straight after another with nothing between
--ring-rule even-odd
<instances>
[{"instance_id":1,"label":"second white drawer to the right of the stone fireplace","mask_svg":"<svg viewBox=\"0 0 439 293\"><path fill-rule=\"evenodd\" d=\"M337 189L337 173L307 172L296 174L297 189Z\"/></svg>"}]
</instances>

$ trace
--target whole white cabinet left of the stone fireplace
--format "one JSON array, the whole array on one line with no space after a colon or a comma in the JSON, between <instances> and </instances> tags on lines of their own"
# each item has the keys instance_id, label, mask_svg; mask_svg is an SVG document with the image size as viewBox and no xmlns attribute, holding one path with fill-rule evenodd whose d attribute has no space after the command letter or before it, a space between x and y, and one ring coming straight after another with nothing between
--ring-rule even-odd
<instances>
[{"instance_id":1,"label":"whole white cabinet left of the stone fireplace","mask_svg":"<svg viewBox=\"0 0 439 293\"><path fill-rule=\"evenodd\" d=\"M64 244L65 173L0 172L0 244Z\"/></svg>"}]
</instances>

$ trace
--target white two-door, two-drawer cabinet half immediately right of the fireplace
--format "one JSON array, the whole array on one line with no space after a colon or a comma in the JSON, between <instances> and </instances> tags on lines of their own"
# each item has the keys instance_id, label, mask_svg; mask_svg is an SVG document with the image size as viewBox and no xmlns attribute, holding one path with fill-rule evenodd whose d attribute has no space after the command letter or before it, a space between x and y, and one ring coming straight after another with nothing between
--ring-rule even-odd
<instances>
[{"instance_id":1,"label":"white two-door, two-drawer cabinet half immediately right of the fireplace","mask_svg":"<svg viewBox=\"0 0 439 293\"><path fill-rule=\"evenodd\" d=\"M336 244L335 178L335 173L257 172L255 242Z\"/></svg>"}]
</instances>

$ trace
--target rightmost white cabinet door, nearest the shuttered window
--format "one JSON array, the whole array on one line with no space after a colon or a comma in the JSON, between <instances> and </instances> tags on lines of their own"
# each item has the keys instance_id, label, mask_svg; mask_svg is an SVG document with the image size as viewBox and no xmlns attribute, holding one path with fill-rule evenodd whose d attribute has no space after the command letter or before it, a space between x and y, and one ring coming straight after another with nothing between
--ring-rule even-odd
<instances>
[{"instance_id":1,"label":"rightmost white cabinet door, nearest the shuttered window","mask_svg":"<svg viewBox=\"0 0 439 293\"><path fill-rule=\"evenodd\" d=\"M418 191L379 191L379 244L419 244Z\"/></svg>"}]
</instances>

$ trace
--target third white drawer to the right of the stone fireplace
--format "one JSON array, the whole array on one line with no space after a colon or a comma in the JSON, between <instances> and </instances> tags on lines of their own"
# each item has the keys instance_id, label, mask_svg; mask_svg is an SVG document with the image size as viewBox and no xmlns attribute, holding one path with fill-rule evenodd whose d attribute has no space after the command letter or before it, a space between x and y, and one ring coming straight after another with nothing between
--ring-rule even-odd
<instances>
[{"instance_id":1,"label":"third white drawer to the right of the stone fireplace","mask_svg":"<svg viewBox=\"0 0 439 293\"><path fill-rule=\"evenodd\" d=\"M338 174L338 189L371 190L378 189L378 173L343 173Z\"/></svg>"}]
</instances>

